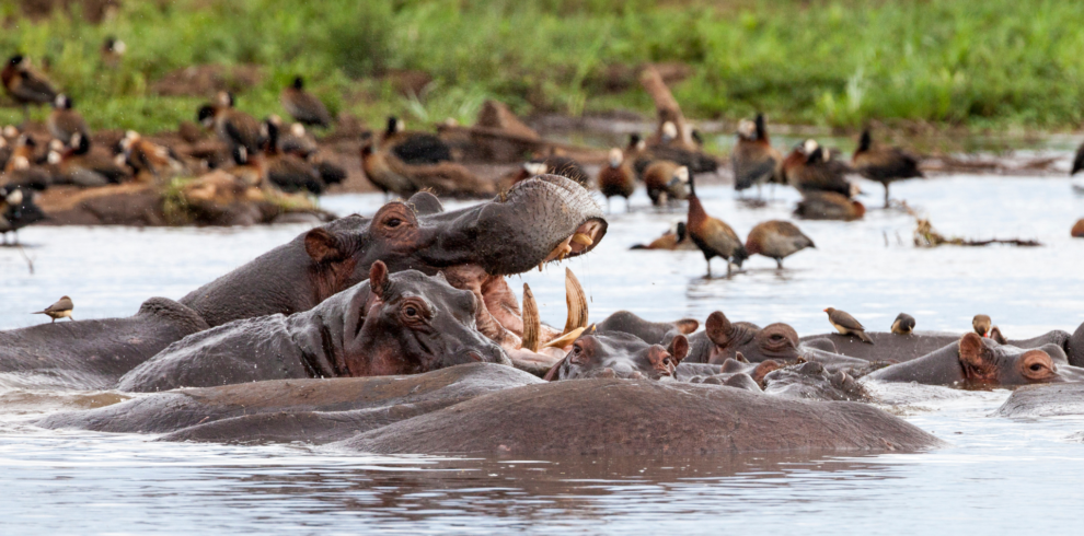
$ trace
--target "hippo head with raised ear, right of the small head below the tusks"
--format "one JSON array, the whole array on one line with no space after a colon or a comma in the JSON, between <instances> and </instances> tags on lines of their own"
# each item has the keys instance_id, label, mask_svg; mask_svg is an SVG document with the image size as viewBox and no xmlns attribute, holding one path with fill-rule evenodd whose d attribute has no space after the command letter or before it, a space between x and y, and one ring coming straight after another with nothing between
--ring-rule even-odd
<instances>
[{"instance_id":1,"label":"hippo head with raised ear, right of the small head below the tusks","mask_svg":"<svg viewBox=\"0 0 1084 536\"><path fill-rule=\"evenodd\" d=\"M753 362L794 361L802 354L798 333L786 324L770 324L763 328L743 322L731 324L726 315L716 311L707 317L704 329L715 345L707 361L712 364L720 364L738 352Z\"/></svg>"}]
</instances>

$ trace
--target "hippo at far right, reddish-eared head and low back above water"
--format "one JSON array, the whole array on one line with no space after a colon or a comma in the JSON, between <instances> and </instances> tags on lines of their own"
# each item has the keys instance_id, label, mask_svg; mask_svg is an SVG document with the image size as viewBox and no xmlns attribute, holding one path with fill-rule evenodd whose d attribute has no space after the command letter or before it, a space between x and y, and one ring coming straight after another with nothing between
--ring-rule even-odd
<instances>
[{"instance_id":1,"label":"hippo at far right, reddish-eared head and low back above water","mask_svg":"<svg viewBox=\"0 0 1084 536\"><path fill-rule=\"evenodd\" d=\"M1019 348L968 333L957 342L922 358L880 369L865 378L959 387L1012 387L1080 382L1084 380L1084 369L1070 365L1059 345Z\"/></svg>"}]
</instances>

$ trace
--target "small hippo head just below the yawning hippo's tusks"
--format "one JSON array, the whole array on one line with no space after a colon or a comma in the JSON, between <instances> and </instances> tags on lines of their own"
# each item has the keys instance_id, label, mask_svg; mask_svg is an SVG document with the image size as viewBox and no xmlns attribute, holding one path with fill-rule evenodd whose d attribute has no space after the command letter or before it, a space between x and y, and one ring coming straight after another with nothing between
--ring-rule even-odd
<instances>
[{"instance_id":1,"label":"small hippo head just below the yawning hippo's tusks","mask_svg":"<svg viewBox=\"0 0 1084 536\"><path fill-rule=\"evenodd\" d=\"M669 348L648 345L643 339L620 331L584 335L555 368L551 380L578 377L672 378L678 363L689 353L689 340L678 335Z\"/></svg>"}]
</instances>

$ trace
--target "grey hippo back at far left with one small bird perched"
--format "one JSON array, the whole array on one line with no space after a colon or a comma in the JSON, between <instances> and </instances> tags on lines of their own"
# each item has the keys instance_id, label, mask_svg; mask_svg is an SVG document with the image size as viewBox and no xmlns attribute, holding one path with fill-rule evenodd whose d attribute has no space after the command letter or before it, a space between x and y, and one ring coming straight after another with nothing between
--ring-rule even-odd
<instances>
[{"instance_id":1,"label":"grey hippo back at far left with one small bird perched","mask_svg":"<svg viewBox=\"0 0 1084 536\"><path fill-rule=\"evenodd\" d=\"M170 342L207 329L193 310L151 298L127 318L79 321L0 331L0 372L31 383L103 389ZM28 377L26 380L30 380Z\"/></svg>"}]
</instances>

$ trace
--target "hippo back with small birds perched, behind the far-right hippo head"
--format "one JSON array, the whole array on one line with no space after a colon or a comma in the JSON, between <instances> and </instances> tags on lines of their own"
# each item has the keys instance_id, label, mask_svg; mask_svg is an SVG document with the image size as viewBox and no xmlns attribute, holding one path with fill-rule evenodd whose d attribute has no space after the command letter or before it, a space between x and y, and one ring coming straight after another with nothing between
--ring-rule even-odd
<instances>
[{"instance_id":1,"label":"hippo back with small birds perched, behind the far-right hippo head","mask_svg":"<svg viewBox=\"0 0 1084 536\"><path fill-rule=\"evenodd\" d=\"M873 345L866 345L851 335L834 333L806 336L802 338L802 343L869 361L904 362L926 356L960 338L959 334L943 331L913 331L908 335L866 331L866 335L873 339ZM1006 343L1018 348L1057 345L1069 358L1069 364L1084 366L1084 324L1073 335L1056 329L1030 339L1010 339Z\"/></svg>"}]
</instances>

